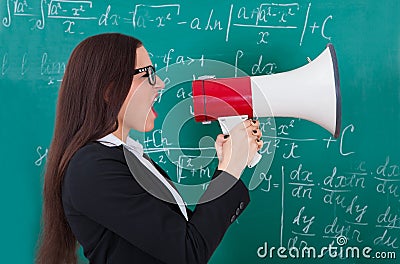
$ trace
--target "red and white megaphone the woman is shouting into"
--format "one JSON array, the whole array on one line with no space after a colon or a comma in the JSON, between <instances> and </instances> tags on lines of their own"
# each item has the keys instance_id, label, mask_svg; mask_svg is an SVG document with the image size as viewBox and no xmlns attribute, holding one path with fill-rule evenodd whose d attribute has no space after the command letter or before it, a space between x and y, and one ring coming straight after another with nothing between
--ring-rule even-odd
<instances>
[{"instance_id":1,"label":"red and white megaphone the woman is shouting into","mask_svg":"<svg viewBox=\"0 0 400 264\"><path fill-rule=\"evenodd\" d=\"M272 75L204 78L192 82L197 122L218 120L224 134L247 118L292 117L311 121L335 138L341 126L341 95L332 44L313 61ZM261 159L257 155L249 166Z\"/></svg>"}]
</instances>

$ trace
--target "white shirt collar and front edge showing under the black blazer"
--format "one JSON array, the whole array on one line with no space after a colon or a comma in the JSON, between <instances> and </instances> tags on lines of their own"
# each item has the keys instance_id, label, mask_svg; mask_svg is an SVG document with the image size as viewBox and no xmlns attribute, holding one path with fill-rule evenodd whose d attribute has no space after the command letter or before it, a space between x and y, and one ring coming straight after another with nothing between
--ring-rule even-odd
<instances>
[{"instance_id":1,"label":"white shirt collar and front edge showing under the black blazer","mask_svg":"<svg viewBox=\"0 0 400 264\"><path fill-rule=\"evenodd\" d=\"M174 197L176 203L178 204L179 209L181 210L183 216L186 218L186 221L188 220L185 202L183 201L181 195L171 186L171 184L164 178L164 176L161 175L161 173L157 170L157 168L149 160L143 157L142 144L140 144L136 140L133 140L129 136L126 139L126 143L124 143L122 140L114 136L114 134L112 133L98 139L97 141L108 147L120 146L120 145L125 146L131 153L133 153L139 159L139 161L144 166L146 166L165 185L165 187L168 188L168 190Z\"/></svg>"}]
</instances>

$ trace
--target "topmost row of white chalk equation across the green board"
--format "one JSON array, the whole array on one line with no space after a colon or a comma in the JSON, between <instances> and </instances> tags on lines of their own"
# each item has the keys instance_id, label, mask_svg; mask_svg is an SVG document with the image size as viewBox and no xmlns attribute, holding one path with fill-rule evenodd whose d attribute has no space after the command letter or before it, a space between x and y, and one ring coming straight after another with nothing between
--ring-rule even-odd
<instances>
[{"instance_id":1,"label":"topmost row of white chalk equation across the green board","mask_svg":"<svg viewBox=\"0 0 400 264\"><path fill-rule=\"evenodd\" d=\"M40 3L38 6L38 3ZM93 27L131 26L140 29L189 29L205 32L222 32L226 42L232 32L239 28L254 30L257 44L266 45L271 41L274 31L292 31L298 36L301 46L306 34L319 34L331 40L329 30L333 16L327 14L323 19L311 21L312 3L259 3L253 6L230 4L221 8L199 10L193 16L186 13L181 4L132 4L127 3L123 11L115 6L98 6L97 2L82 0L7 0L2 25L9 28L18 20L27 19L31 30L44 30L49 23L60 21L64 32L85 34L82 25L90 23ZM118 4L117 6L120 6ZM192 9L193 10L193 9Z\"/></svg>"}]
</instances>

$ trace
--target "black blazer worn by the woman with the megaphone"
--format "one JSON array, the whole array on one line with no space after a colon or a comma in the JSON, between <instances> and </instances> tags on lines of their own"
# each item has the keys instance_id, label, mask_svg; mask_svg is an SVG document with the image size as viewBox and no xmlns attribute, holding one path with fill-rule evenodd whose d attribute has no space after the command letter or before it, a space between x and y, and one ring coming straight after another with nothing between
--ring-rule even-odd
<instances>
[{"instance_id":1,"label":"black blazer worn by the woman with the megaphone","mask_svg":"<svg viewBox=\"0 0 400 264\"><path fill-rule=\"evenodd\" d=\"M250 201L243 182L216 171L200 201L223 194L187 210L186 221L176 204L145 190L171 195L133 154L125 154L127 159L122 146L91 142L75 153L64 176L64 212L90 263L207 263ZM127 160L135 177L151 179L145 182L151 186L138 183Z\"/></svg>"}]
</instances>

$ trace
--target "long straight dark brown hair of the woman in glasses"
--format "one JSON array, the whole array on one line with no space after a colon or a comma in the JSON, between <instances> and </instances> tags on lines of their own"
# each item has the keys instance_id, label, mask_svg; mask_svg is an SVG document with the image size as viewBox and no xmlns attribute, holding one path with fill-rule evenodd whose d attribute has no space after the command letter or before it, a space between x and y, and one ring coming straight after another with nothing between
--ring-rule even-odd
<instances>
[{"instance_id":1,"label":"long straight dark brown hair of the woman in glasses","mask_svg":"<svg viewBox=\"0 0 400 264\"><path fill-rule=\"evenodd\" d=\"M79 148L117 129L118 113L132 82L136 49L141 45L130 36L100 34L82 41L71 54L47 157L36 263L77 263L77 240L61 199L64 173Z\"/></svg>"}]
</instances>

